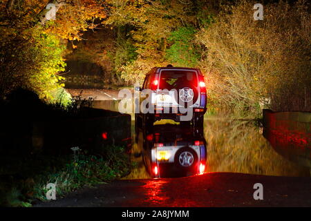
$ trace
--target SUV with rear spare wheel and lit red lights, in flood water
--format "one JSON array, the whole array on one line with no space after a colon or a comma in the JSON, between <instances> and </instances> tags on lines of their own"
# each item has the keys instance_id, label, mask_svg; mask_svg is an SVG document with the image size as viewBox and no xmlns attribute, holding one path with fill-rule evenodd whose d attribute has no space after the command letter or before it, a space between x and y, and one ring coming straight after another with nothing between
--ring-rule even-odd
<instances>
[{"instance_id":1,"label":"SUV with rear spare wheel and lit red lights, in flood water","mask_svg":"<svg viewBox=\"0 0 311 221\"><path fill-rule=\"evenodd\" d=\"M135 120L150 125L156 120L173 119L181 124L202 126L207 110L204 77L198 68L161 67L147 73L140 91L140 107ZM148 102L146 102L148 100Z\"/></svg>"}]
</instances>

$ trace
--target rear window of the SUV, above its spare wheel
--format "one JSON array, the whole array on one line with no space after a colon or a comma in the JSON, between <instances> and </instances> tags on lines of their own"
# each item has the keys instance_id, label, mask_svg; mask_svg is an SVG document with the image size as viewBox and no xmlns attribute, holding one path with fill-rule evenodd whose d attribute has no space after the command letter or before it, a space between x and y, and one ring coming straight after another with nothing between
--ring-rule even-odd
<instances>
[{"instance_id":1,"label":"rear window of the SUV, above its spare wheel","mask_svg":"<svg viewBox=\"0 0 311 221\"><path fill-rule=\"evenodd\" d=\"M198 86L196 72L191 70L162 70L159 89L193 88Z\"/></svg>"}]
</instances>

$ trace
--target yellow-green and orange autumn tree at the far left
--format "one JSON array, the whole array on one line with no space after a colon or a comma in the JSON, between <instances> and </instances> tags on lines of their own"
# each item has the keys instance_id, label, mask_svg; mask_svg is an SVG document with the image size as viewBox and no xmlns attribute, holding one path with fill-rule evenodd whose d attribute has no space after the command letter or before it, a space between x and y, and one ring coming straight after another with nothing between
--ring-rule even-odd
<instances>
[{"instance_id":1,"label":"yellow-green and orange autumn tree at the far left","mask_svg":"<svg viewBox=\"0 0 311 221\"><path fill-rule=\"evenodd\" d=\"M23 87L48 101L62 86L66 40L80 40L94 19L106 16L96 0L9 0L0 10L0 96Z\"/></svg>"}]
</instances>

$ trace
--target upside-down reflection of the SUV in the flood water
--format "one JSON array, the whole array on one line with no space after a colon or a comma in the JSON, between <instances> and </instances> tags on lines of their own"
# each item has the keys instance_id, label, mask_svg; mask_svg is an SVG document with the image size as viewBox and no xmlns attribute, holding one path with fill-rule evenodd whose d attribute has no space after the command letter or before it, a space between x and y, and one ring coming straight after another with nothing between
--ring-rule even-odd
<instances>
[{"instance_id":1,"label":"upside-down reflection of the SUV in the flood water","mask_svg":"<svg viewBox=\"0 0 311 221\"><path fill-rule=\"evenodd\" d=\"M202 129L163 124L139 128L138 145L151 177L183 177L204 173L207 157Z\"/></svg>"}]
</instances>

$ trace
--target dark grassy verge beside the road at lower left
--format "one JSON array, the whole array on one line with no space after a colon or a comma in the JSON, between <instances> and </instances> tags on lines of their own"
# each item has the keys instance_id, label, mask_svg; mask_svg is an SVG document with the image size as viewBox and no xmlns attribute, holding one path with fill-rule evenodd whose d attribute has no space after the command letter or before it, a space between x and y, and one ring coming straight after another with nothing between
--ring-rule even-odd
<instances>
[{"instance_id":1,"label":"dark grassy verge beside the road at lower left","mask_svg":"<svg viewBox=\"0 0 311 221\"><path fill-rule=\"evenodd\" d=\"M61 198L82 186L109 182L131 171L129 155L121 146L106 146L100 155L75 152L62 157L6 157L0 167L0 205L31 206L45 201L48 183L56 184L57 198Z\"/></svg>"}]
</instances>

